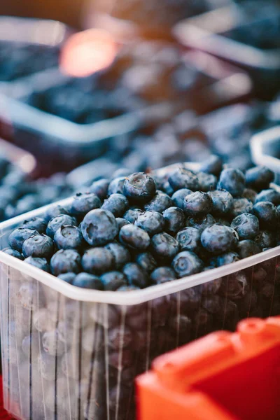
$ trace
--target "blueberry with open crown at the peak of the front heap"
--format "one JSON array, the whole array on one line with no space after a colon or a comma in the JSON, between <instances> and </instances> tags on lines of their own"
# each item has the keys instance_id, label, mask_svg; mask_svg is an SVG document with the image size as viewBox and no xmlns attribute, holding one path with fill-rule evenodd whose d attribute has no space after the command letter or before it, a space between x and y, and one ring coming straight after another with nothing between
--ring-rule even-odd
<instances>
[{"instance_id":1,"label":"blueberry with open crown at the peak of the front heap","mask_svg":"<svg viewBox=\"0 0 280 420\"><path fill-rule=\"evenodd\" d=\"M132 174L125 180L123 194L134 202L148 202L155 195L155 181L143 172Z\"/></svg>"}]
</instances>

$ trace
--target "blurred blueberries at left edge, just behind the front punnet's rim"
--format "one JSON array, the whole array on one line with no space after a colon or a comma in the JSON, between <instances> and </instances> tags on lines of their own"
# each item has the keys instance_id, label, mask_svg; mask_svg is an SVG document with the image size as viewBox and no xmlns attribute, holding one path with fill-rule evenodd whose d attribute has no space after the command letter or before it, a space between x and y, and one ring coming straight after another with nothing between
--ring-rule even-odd
<instances>
[{"instance_id":1,"label":"blurred blueberries at left edge, just behind the front punnet's rim","mask_svg":"<svg viewBox=\"0 0 280 420\"><path fill-rule=\"evenodd\" d=\"M0 221L69 197L72 193L65 174L31 181L17 165L0 155Z\"/></svg>"}]
</instances>

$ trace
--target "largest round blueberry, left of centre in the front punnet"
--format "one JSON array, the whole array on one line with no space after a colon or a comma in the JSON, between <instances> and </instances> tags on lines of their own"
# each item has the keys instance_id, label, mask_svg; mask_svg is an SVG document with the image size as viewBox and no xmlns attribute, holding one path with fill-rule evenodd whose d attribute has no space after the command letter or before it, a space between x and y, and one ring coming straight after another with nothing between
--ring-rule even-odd
<instances>
[{"instance_id":1,"label":"largest round blueberry, left of centre in the front punnet","mask_svg":"<svg viewBox=\"0 0 280 420\"><path fill-rule=\"evenodd\" d=\"M95 209L85 215L80 227L87 244L106 245L118 235L115 216L108 210Z\"/></svg>"}]
</instances>

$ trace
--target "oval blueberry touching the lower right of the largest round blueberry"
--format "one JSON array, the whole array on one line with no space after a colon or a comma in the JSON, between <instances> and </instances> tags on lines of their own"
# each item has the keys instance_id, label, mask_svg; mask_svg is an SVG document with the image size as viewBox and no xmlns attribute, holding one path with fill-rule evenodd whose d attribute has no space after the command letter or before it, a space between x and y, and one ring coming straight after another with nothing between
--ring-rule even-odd
<instances>
[{"instance_id":1,"label":"oval blueberry touching the lower right of the largest round blueberry","mask_svg":"<svg viewBox=\"0 0 280 420\"><path fill-rule=\"evenodd\" d=\"M132 249L146 249L150 245L148 233L132 224L121 228L119 239L122 244Z\"/></svg>"}]
</instances>

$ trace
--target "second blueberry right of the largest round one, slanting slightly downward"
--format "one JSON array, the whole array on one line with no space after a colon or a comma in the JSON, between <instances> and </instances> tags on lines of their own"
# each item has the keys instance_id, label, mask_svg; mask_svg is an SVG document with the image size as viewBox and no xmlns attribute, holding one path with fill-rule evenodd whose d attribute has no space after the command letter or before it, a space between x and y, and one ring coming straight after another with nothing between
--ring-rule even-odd
<instances>
[{"instance_id":1,"label":"second blueberry right of the largest round one, slanting slightly downward","mask_svg":"<svg viewBox=\"0 0 280 420\"><path fill-rule=\"evenodd\" d=\"M156 259L172 260L179 252L179 244L168 233L158 233L151 240L151 249Z\"/></svg>"}]
</instances>

